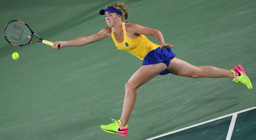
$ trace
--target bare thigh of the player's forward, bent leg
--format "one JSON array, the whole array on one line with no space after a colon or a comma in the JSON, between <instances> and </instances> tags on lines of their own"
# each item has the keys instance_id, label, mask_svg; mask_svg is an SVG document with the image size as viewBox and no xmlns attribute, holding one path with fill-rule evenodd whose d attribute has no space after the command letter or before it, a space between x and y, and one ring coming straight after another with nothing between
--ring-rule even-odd
<instances>
[{"instance_id":1,"label":"bare thigh of the player's forward, bent leg","mask_svg":"<svg viewBox=\"0 0 256 140\"><path fill-rule=\"evenodd\" d=\"M139 88L167 68L164 63L141 66L128 80L126 87Z\"/></svg>"}]
</instances>

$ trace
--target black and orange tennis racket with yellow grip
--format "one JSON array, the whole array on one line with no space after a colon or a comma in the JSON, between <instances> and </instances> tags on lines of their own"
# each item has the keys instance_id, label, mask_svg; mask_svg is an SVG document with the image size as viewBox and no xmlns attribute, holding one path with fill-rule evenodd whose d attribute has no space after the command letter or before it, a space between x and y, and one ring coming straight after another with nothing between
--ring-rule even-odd
<instances>
[{"instance_id":1,"label":"black and orange tennis racket with yellow grip","mask_svg":"<svg viewBox=\"0 0 256 140\"><path fill-rule=\"evenodd\" d=\"M32 40L33 34L37 38L39 38L41 41L32 42L31 40ZM43 40L42 38L37 36L26 23L20 20L12 20L5 26L4 37L7 42L9 42L14 46L24 46L30 43L38 43L38 42L42 42L44 44L53 46L53 42Z\"/></svg>"}]
</instances>

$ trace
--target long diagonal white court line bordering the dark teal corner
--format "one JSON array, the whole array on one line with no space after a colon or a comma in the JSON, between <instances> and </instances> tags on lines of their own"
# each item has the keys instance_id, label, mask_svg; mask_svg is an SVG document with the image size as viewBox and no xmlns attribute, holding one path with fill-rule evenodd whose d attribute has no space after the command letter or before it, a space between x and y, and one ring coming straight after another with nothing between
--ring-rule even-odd
<instances>
[{"instance_id":1,"label":"long diagonal white court line bordering the dark teal corner","mask_svg":"<svg viewBox=\"0 0 256 140\"><path fill-rule=\"evenodd\" d=\"M169 133L165 133L165 134L162 134L162 135L159 135L159 136L155 136L153 138L149 138L149 139L146 139L146 140L153 140L153 139L156 139L156 138L160 138L160 137L163 137L163 136L166 136L166 135L170 135L170 134L182 131L182 130L186 130L186 129L189 129L189 128L192 128L192 127L196 127L196 126L199 126L199 125L202 125L202 124L213 122L213 121L216 121L216 120L219 120L219 119L223 119L223 118L226 118L226 117L229 117L229 116L233 116L234 114L239 114L239 113L242 113L242 112L245 112L245 111L249 111L249 110L252 110L252 109L255 109L255 108L256 108L256 106L248 108L248 109L245 109L245 110L241 110L241 111L238 111L238 112L235 112L235 113L231 113L231 114L228 114L228 115L225 115L225 116L222 116L222 117L218 117L218 118L215 118L215 119L212 119L212 120L209 120L209 121L205 121L205 122L201 122L201 123L198 123L198 124L195 124L195 125L191 125L191 126L188 126L188 127L185 127L185 128L181 128L181 129L178 129L178 130L175 130L175 131L172 131L172 132L169 132Z\"/></svg>"}]
</instances>

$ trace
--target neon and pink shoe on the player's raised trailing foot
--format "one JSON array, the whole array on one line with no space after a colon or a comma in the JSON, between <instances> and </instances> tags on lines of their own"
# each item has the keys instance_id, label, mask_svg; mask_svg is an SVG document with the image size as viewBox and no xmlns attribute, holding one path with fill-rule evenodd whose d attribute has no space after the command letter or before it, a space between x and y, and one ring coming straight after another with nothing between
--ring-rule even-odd
<instances>
[{"instance_id":1,"label":"neon and pink shoe on the player's raised trailing foot","mask_svg":"<svg viewBox=\"0 0 256 140\"><path fill-rule=\"evenodd\" d=\"M249 77L245 74L244 68L241 65L236 66L231 70L234 73L234 79L236 83L241 82L245 84L249 89L252 89L252 83Z\"/></svg>"}]
</instances>

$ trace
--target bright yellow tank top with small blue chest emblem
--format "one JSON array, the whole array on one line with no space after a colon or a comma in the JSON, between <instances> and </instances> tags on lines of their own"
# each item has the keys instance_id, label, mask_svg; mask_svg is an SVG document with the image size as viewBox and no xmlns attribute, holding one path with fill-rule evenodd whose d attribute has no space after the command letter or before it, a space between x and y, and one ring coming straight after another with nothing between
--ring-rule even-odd
<instances>
[{"instance_id":1,"label":"bright yellow tank top with small blue chest emblem","mask_svg":"<svg viewBox=\"0 0 256 140\"><path fill-rule=\"evenodd\" d=\"M135 39L129 38L126 34L125 23L122 23L122 28L124 32L124 41L122 43L117 42L114 31L112 30L111 32L112 39L117 49L127 51L143 60L150 51L159 47L158 44L151 42L145 35L140 35Z\"/></svg>"}]
</instances>

